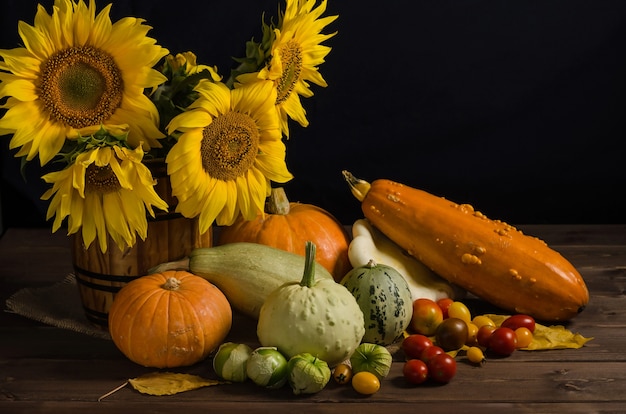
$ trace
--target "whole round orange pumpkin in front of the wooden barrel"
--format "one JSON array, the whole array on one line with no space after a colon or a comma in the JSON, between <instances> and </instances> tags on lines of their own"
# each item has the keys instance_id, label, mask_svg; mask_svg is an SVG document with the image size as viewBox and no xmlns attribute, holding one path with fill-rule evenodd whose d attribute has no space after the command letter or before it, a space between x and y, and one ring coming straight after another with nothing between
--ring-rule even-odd
<instances>
[{"instance_id":1,"label":"whole round orange pumpkin in front of the wooden barrel","mask_svg":"<svg viewBox=\"0 0 626 414\"><path fill-rule=\"evenodd\" d=\"M115 296L109 332L131 361L155 368L195 364L215 350L232 325L226 296L187 271L135 279Z\"/></svg>"}]
</instances>

